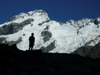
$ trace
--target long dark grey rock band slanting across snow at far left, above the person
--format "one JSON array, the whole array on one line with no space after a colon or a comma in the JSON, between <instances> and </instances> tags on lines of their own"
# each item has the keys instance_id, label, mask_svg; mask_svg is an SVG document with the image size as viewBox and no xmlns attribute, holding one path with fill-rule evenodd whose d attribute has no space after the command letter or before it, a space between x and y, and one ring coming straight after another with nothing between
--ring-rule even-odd
<instances>
[{"instance_id":1,"label":"long dark grey rock band slanting across snow at far left, above the person","mask_svg":"<svg viewBox=\"0 0 100 75\"><path fill-rule=\"evenodd\" d=\"M0 35L13 34L21 30L25 25L31 24L34 21L33 19L25 20L21 23L11 23L9 25L4 25L0 28Z\"/></svg>"}]
</instances>

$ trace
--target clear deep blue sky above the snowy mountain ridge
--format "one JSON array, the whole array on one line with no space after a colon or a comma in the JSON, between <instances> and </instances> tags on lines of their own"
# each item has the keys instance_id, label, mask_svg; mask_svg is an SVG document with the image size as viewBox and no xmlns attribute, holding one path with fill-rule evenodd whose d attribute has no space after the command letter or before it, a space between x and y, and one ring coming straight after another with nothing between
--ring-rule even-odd
<instances>
[{"instance_id":1,"label":"clear deep blue sky above the snowy mountain ridge","mask_svg":"<svg viewBox=\"0 0 100 75\"><path fill-rule=\"evenodd\" d=\"M51 20L66 22L100 17L100 0L0 0L0 24L21 12L46 11Z\"/></svg>"}]
</instances>

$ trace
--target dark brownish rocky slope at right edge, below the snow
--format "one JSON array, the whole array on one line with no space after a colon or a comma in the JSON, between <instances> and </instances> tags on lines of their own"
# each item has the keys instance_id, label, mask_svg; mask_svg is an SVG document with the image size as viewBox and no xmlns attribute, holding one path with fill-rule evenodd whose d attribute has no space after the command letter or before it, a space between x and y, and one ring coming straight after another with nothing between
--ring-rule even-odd
<instances>
[{"instance_id":1,"label":"dark brownish rocky slope at right edge, below the snow","mask_svg":"<svg viewBox=\"0 0 100 75\"><path fill-rule=\"evenodd\" d=\"M78 48L76 51L74 51L72 54L78 54L84 57L91 57L91 58L100 58L100 43L93 46L84 46L81 48Z\"/></svg>"}]
</instances>

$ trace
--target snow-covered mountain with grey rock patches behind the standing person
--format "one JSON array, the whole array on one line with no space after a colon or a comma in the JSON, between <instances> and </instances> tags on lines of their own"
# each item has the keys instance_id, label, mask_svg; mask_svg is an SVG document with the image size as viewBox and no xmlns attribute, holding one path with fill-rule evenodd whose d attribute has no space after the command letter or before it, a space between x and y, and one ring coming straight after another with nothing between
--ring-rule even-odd
<instances>
[{"instance_id":1,"label":"snow-covered mountain with grey rock patches behind the standing person","mask_svg":"<svg viewBox=\"0 0 100 75\"><path fill-rule=\"evenodd\" d=\"M71 53L79 47L100 42L100 17L61 23L50 20L43 10L21 13L0 25L0 43L17 44L25 51L29 48L31 33L35 36L34 49Z\"/></svg>"}]
</instances>

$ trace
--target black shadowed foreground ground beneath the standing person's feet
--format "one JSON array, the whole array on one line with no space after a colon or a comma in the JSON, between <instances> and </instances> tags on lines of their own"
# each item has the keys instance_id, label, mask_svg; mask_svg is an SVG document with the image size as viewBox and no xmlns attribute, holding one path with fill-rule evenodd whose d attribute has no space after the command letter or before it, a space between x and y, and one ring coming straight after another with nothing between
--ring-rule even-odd
<instances>
[{"instance_id":1,"label":"black shadowed foreground ground beneath the standing person's feet","mask_svg":"<svg viewBox=\"0 0 100 75\"><path fill-rule=\"evenodd\" d=\"M16 45L0 44L0 75L97 75L99 59L74 54L20 51Z\"/></svg>"}]
</instances>

